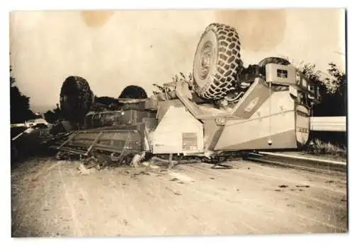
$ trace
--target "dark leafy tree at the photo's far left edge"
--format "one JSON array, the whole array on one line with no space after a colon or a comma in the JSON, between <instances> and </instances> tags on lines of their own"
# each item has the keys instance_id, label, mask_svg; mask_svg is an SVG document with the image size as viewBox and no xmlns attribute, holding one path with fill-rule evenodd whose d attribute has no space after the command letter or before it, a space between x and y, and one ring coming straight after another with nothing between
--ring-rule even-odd
<instances>
[{"instance_id":1,"label":"dark leafy tree at the photo's far left edge","mask_svg":"<svg viewBox=\"0 0 354 246\"><path fill-rule=\"evenodd\" d=\"M21 123L33 119L35 114L30 110L30 98L18 89L16 78L11 75L10 66L10 119L11 123Z\"/></svg>"}]
</instances>

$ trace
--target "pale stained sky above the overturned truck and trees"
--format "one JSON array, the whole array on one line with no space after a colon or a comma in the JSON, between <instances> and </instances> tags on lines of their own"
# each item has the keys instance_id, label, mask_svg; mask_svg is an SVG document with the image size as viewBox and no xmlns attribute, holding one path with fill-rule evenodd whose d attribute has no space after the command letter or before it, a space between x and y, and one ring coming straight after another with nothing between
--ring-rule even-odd
<instances>
[{"instance_id":1,"label":"pale stained sky above the overturned truck and trees","mask_svg":"<svg viewBox=\"0 0 354 246\"><path fill-rule=\"evenodd\" d=\"M200 35L210 23L232 25L245 65L265 57L309 62L326 73L345 71L344 9L194 11L14 11L10 64L31 109L59 102L62 82L82 76L98 96L117 98L129 85L152 93L152 83L193 70Z\"/></svg>"}]
</instances>

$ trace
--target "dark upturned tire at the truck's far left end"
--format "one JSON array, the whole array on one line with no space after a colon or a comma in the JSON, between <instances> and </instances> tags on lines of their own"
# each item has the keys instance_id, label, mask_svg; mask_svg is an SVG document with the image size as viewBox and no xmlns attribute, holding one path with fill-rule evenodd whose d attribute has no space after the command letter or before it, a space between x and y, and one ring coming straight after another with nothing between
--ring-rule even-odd
<instances>
[{"instance_id":1,"label":"dark upturned tire at the truck's far left end","mask_svg":"<svg viewBox=\"0 0 354 246\"><path fill-rule=\"evenodd\" d=\"M93 105L93 93L86 79L69 76L60 90L60 109L62 117L81 123Z\"/></svg>"}]
</instances>

